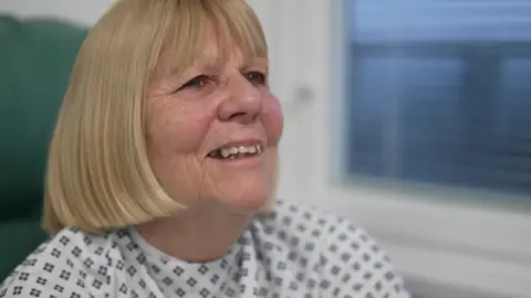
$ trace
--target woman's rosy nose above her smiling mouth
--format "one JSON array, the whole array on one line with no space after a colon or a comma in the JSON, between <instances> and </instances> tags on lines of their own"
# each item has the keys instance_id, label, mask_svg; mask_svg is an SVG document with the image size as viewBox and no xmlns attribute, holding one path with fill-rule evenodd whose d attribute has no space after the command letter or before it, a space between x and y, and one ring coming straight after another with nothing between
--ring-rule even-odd
<instances>
[{"instance_id":1,"label":"woman's rosy nose above her smiling mouth","mask_svg":"<svg viewBox=\"0 0 531 298\"><path fill-rule=\"evenodd\" d=\"M256 121L262 109L262 94L257 86L240 75L231 78L226 88L227 97L218 107L219 119L243 125Z\"/></svg>"}]
</instances>

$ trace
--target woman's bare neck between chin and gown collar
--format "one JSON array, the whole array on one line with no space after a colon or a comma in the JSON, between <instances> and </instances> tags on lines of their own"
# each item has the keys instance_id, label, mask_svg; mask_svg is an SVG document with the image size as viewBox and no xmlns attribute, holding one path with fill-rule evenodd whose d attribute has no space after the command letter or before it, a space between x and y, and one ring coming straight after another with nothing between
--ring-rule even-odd
<instances>
[{"instance_id":1,"label":"woman's bare neck between chin and gown collar","mask_svg":"<svg viewBox=\"0 0 531 298\"><path fill-rule=\"evenodd\" d=\"M205 263L222 257L251 217L219 209L187 209L175 217L140 224L136 231L147 243L173 257Z\"/></svg>"}]
</instances>

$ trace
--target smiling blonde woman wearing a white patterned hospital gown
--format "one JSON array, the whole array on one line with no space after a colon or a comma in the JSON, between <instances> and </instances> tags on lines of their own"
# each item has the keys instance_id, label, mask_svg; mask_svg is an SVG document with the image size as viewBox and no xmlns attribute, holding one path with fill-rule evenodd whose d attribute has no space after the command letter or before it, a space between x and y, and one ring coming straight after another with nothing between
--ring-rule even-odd
<instances>
[{"instance_id":1,"label":"smiling blonde woman wearing a white patterned hospital gown","mask_svg":"<svg viewBox=\"0 0 531 298\"><path fill-rule=\"evenodd\" d=\"M271 200L281 134L247 1L118 1L51 142L53 236L0 297L409 297L363 230Z\"/></svg>"}]
</instances>

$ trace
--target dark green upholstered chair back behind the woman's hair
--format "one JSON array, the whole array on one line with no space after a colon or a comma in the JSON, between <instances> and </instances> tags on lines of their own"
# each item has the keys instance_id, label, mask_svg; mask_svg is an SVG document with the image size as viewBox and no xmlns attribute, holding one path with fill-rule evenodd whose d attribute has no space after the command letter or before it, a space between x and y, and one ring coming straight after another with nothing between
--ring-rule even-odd
<instances>
[{"instance_id":1,"label":"dark green upholstered chair back behind the woman's hair","mask_svg":"<svg viewBox=\"0 0 531 298\"><path fill-rule=\"evenodd\" d=\"M0 14L0 283L46 235L49 139L86 30Z\"/></svg>"}]
</instances>

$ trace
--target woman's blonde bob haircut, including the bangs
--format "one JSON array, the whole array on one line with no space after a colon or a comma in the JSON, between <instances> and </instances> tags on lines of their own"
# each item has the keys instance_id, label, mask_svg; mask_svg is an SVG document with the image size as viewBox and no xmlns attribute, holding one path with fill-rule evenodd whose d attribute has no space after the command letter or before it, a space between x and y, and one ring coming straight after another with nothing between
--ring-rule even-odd
<instances>
[{"instance_id":1,"label":"woman's blonde bob haircut, including the bangs","mask_svg":"<svg viewBox=\"0 0 531 298\"><path fill-rule=\"evenodd\" d=\"M184 209L149 166L145 95L160 67L189 66L212 29L222 52L236 45L267 58L262 28L246 0L119 0L95 24L77 54L50 145L46 232L75 226L103 233ZM164 62L163 50L170 53Z\"/></svg>"}]
</instances>

